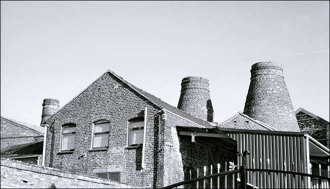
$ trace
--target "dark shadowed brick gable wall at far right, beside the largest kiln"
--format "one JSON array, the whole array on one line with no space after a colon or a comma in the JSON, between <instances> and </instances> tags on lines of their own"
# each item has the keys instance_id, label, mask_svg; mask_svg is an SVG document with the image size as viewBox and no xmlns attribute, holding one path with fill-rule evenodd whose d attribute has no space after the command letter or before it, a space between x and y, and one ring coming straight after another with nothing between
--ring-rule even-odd
<instances>
[{"instance_id":1,"label":"dark shadowed brick gable wall at far right, beside the largest kiln","mask_svg":"<svg viewBox=\"0 0 330 189\"><path fill-rule=\"evenodd\" d=\"M300 131L304 132L329 148L329 125L299 112L297 115Z\"/></svg>"}]
</instances>

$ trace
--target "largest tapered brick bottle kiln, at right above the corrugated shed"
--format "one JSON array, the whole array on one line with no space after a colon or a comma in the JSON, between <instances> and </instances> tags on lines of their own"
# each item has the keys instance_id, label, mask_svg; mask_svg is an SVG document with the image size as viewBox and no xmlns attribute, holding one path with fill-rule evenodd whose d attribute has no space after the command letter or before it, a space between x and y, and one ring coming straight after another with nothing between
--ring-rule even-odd
<instances>
[{"instance_id":1,"label":"largest tapered brick bottle kiln, at right above the corrugated shed","mask_svg":"<svg viewBox=\"0 0 330 189\"><path fill-rule=\"evenodd\" d=\"M252 65L243 113L276 130L300 132L281 64L258 62Z\"/></svg>"}]
</instances>

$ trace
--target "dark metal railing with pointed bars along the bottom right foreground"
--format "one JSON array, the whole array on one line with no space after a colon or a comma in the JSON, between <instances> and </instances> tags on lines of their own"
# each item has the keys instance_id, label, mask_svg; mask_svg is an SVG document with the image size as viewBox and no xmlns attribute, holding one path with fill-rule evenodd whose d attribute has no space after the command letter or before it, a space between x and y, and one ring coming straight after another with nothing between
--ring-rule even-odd
<instances>
[{"instance_id":1,"label":"dark metal railing with pointed bars along the bottom right foreground","mask_svg":"<svg viewBox=\"0 0 330 189\"><path fill-rule=\"evenodd\" d=\"M329 188L329 177L286 170L246 168L245 156L250 155L250 153L245 151L243 155L237 154L242 157L242 166L239 166L239 169L234 170L237 166L230 162L229 171L227 171L226 163L225 171L220 172L220 164L218 164L218 172L212 174L213 166L211 165L211 174L206 175L207 168L204 166L203 176L199 176L199 169L197 168L196 177L191 178L192 174L189 170L188 180L163 188L178 188L180 186L185 188L227 188L227 186L231 188ZM247 182L247 175L252 176L252 183ZM256 186L257 175L258 178L263 178L258 181L260 187ZM202 182L200 182L201 180Z\"/></svg>"}]
</instances>

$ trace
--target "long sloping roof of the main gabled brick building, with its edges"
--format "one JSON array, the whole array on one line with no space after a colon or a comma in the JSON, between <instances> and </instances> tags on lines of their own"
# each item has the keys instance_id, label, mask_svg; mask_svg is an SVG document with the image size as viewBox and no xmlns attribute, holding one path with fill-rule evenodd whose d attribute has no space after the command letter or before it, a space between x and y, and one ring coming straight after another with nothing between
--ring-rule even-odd
<instances>
[{"instance_id":1,"label":"long sloping roof of the main gabled brick building, with its edges","mask_svg":"<svg viewBox=\"0 0 330 189\"><path fill-rule=\"evenodd\" d=\"M55 114L53 116L51 116L49 119L47 119L45 121L45 123L49 120L51 120L59 111L61 111L64 107L66 107L68 104L70 104L74 99L76 99L78 96L80 96L80 94L82 94L83 92L85 92L87 89L89 89L94 83L96 83L99 79L101 79L105 74L110 73L112 74L114 77L116 77L117 79L119 79L121 82L125 83L126 85L128 85L130 88L132 88L134 91L136 91L138 94L140 94L141 96L143 96L144 98L146 98L148 101L150 101L151 103L153 103L154 105L156 105L157 107L161 108L161 109L166 109L170 112L173 112L174 114L177 114L183 118L186 118L198 125L201 125L203 127L206 128L213 128L213 125L211 125L209 122L195 118L189 114L187 114L186 112L182 111L181 109L178 109L162 100L160 100L160 98L155 97L154 95L143 91L142 89L137 88L136 86L132 85L131 83L125 81L124 79L122 79L119 75L117 75L116 73L114 73L113 71L110 71L109 69L104 72L98 79L96 79L91 85L89 85L86 89L84 89L83 91L81 91L77 96L75 96L72 100L70 100L67 104L65 104L63 107L61 107L59 110L57 110L55 112Z\"/></svg>"}]
</instances>

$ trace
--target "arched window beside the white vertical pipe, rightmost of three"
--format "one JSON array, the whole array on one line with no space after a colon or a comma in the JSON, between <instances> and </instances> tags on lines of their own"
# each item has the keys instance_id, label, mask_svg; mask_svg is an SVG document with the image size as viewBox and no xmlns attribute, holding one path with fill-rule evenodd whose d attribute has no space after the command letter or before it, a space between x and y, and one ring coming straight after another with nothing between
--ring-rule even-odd
<instances>
[{"instance_id":1,"label":"arched window beside the white vertical pipe, rightmost of three","mask_svg":"<svg viewBox=\"0 0 330 189\"><path fill-rule=\"evenodd\" d=\"M143 143L144 119L134 118L130 120L129 145Z\"/></svg>"}]
</instances>

